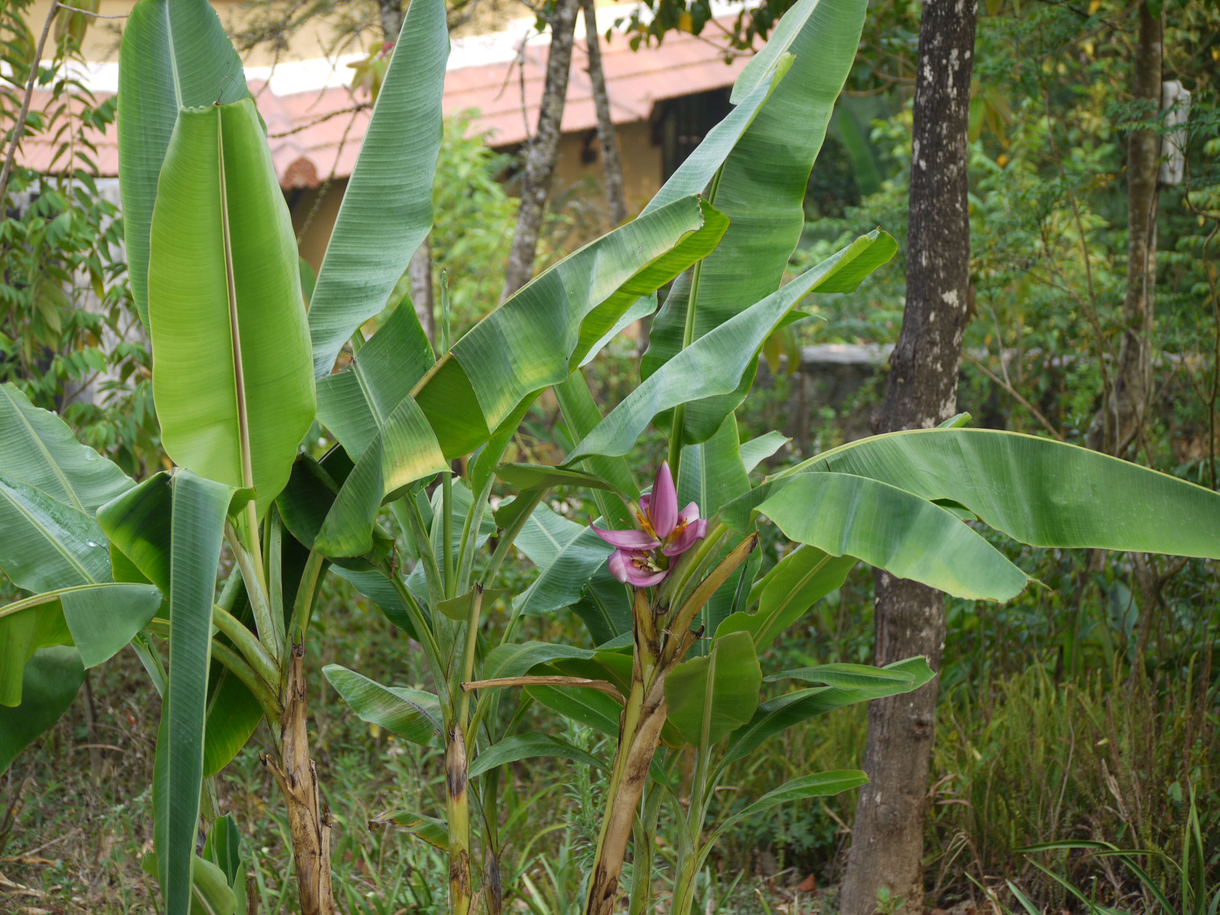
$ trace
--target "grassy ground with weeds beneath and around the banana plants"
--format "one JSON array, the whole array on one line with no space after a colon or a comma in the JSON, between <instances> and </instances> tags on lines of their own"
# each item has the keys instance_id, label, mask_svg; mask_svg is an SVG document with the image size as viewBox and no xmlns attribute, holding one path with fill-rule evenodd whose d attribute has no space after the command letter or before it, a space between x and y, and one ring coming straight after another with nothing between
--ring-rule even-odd
<instances>
[{"instance_id":1,"label":"grassy ground with weeds beneath and around the banana plants","mask_svg":"<svg viewBox=\"0 0 1220 915\"><path fill-rule=\"evenodd\" d=\"M789 632L780 643L782 656L765 658L764 667L861 660L870 630L866 583L856 572L842 600ZM562 615L528 625L534 631L525 638L576 631ZM958 638L967 642L965 630ZM322 665L333 661L386 683L427 683L409 639L350 593L329 594L307 643L307 664L315 759L336 822L340 910L442 913L442 854L372 822L387 810L442 809L440 750L394 739L356 719L321 677ZM950 686L941 703L926 843L930 908L967 915L983 904L976 882L1006 893L1004 880L1013 878L1039 904L1075 911L1066 892L1014 849L1055 838L1105 838L1175 855L1191 784L1215 881L1216 691L1200 693L1196 686L1192 692L1190 683L1202 680L1198 671L1193 680L1157 675L1137 680L1136 687L1100 665L1068 681L1055 681L1037 664L1015 675L965 680L970 689ZM89 689L81 691L63 720L4 775L0 913L159 911L155 881L140 869L151 849L149 786L159 716L160 702L138 661L121 653L92 672ZM539 712L537 728L554 727L554 719ZM858 706L786 732L737 764L720 803L744 803L797 775L856 767L865 731L865 709ZM595 754L603 739L583 728L565 736ZM279 915L295 911L295 886L278 793L259 761L259 750L271 743L261 726L214 784L217 810L233 813L245 836L257 911ZM501 806L505 908L571 915L597 828L590 811L597 811L598 778L586 767L537 760L514 764L510 781ZM704 915L832 915L854 802L847 794L781 806L731 831L702 877ZM670 834L662 820L658 913L667 911ZM1039 860L1077 886L1093 887L1100 900L1131 911L1146 908L1130 875L1113 865L1078 854ZM1155 863L1149 867L1166 874Z\"/></svg>"}]
</instances>

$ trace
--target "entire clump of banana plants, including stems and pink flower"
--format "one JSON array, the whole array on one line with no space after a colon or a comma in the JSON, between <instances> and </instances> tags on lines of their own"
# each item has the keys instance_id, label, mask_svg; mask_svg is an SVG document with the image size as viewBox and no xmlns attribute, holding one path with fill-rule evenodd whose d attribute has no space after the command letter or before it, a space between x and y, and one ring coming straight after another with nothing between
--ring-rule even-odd
<instances>
[{"instance_id":1,"label":"entire clump of banana plants, including stems and pink flower","mask_svg":"<svg viewBox=\"0 0 1220 915\"><path fill-rule=\"evenodd\" d=\"M200 792L264 717L301 910L334 911L329 821L305 730L304 640L327 573L425 648L432 694L342 667L326 675L360 715L444 744L443 819L390 819L447 849L459 915L479 882L499 911L500 766L531 755L590 762L558 738L517 733L523 709L539 703L615 739L586 903L601 915L633 832L638 860L649 860L648 824L676 793L680 748L698 754L675 887L687 906L719 834L704 837L708 799L734 754L836 703L931 676L917 659L888 671L793 671L825 686L761 702L760 648L855 561L1005 600L1025 575L964 520L1036 545L1220 555L1210 492L1022 436L897 433L750 487L747 465L777 439L742 447L732 411L762 343L799 316L804 296L854 289L895 250L872 232L781 285L864 11L861 0L797 4L742 73L737 107L637 220L539 274L438 357L409 303L370 339L361 328L393 304L431 226L448 54L440 0L410 6L307 309L262 126L218 20L205 0L137 5L120 62L124 212L176 468L137 483L5 389L0 512L13 533L0 567L29 597L0 610L0 702L13 723L0 753L52 723L83 669L129 642L162 695L152 797L168 915L200 898L216 911L237 906L239 858L222 866L218 838L211 858L206 847L195 854ZM581 366L671 282L643 383L603 417ZM504 464L548 388L575 445L560 467ZM320 460L300 450L315 421L339 442ZM649 423L669 429L670 460L642 493L622 456ZM458 479L454 461L465 468ZM495 479L518 495L492 512ZM548 508L555 486L589 490L594 527ZM396 538L382 527L387 511ZM761 577L760 520L793 544ZM234 571L217 593L223 544ZM512 597L512 622L490 645L483 610L512 547L539 575ZM566 605L604 636L598 648L514 642L523 615ZM521 702L501 714L516 687ZM804 778L750 810L860 776ZM642 875L637 866L636 913L649 891Z\"/></svg>"}]
</instances>

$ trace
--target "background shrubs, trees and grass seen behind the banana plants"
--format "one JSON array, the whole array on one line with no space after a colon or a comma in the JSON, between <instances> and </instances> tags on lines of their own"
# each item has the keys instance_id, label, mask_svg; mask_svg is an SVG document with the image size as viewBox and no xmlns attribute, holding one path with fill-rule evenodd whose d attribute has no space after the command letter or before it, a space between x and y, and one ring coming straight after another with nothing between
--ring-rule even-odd
<instances>
[{"instance_id":1,"label":"background shrubs, trees and grass seen behind the banana plants","mask_svg":"<svg viewBox=\"0 0 1220 915\"><path fill-rule=\"evenodd\" d=\"M726 48L734 40L758 46L782 9L767 4L745 16L733 39L708 37ZM267 10L276 12L270 4ZM838 122L809 182L808 228L793 271L878 224L899 239L899 256L856 293L819 296L822 320L771 342L769 371L738 411L744 438L802 420L792 415L804 401L792 396L795 381L788 373L802 345L884 346L898 338L920 11L904 0L870 4ZM1166 2L1155 12L1165 22L1164 78L1181 81L1193 104L1185 181L1159 194L1155 318L1147 326L1154 383L1125 456L1215 488L1220 9ZM346 17L353 29L375 27L379 13L371 2L311 7L311 15ZM1088 443L1124 332L1126 140L1139 128L1164 132L1160 112L1131 98L1137 20L1138 5L1108 0L1003 0L978 10L969 138L971 300L959 379L959 409L970 411L975 425ZM59 23L61 57L71 56L73 29L84 26L71 16ZM40 27L27 21L23 2L0 10L6 137L21 116ZM56 135L61 145L56 176L39 179L20 167L10 174L6 163L0 178L6 198L0 381L59 410L81 440L144 476L165 461L150 357L127 285L122 223L90 178L94 150L85 134L87 126L112 120L116 106L113 100L94 104L83 85L56 68L44 68L38 78L50 100L29 111L28 127ZM511 181L499 181L514 163L462 134L460 126L447 129L431 237L434 279L439 284L444 271L458 333L498 301L517 218ZM598 199L597 188L555 189L542 261L566 253L582 223L604 220ZM472 212L482 231L459 234ZM88 309L87 296L94 301ZM639 339L623 336L593 364L603 407L633 387L638 355ZM876 372L847 401L803 417L808 440L782 450L771 467L865 434L884 381ZM556 416L553 401L539 400L517 437L517 451L545 460L569 447ZM632 456L637 470L647 476L660 449L660 437L651 447L645 438ZM582 517L584 506L572 504L569 511ZM1150 899L1141 883L1111 859L1015 849L1085 838L1159 849L1181 860L1192 800L1208 883L1220 882L1214 564L994 542L1047 587L1004 606L948 601L925 836L928 908L989 908L983 888L999 891L1011 880L1039 908L1080 910L1083 903L1053 874L1098 903L1147 909ZM522 562L521 588L526 575ZM383 650L386 639L406 637L342 582L327 587L309 669L316 672L346 656L383 682L421 682L422 665L403 669L393 660L401 651ZM858 570L772 649L781 655L777 662L870 661L872 606L874 578ZM580 632L565 612L528 625ZM420 795L439 791L439 752L362 723L317 680L325 702L317 705L315 758L337 822L340 906L379 915L440 910L442 856L371 824L390 806L428 805L422 797L400 804L395 786L416 786ZM151 847L145 786L157 717L159 703L150 700L134 655L121 654L90 672L71 712L4 775L0 872L30 894L0 897L0 910L152 910L155 894L139 858ZM603 739L573 727L569 738L578 745ZM865 709L858 706L786 733L736 764L731 784L738 791L725 792L721 811L733 808L734 794L760 793L752 784L858 767L866 728ZM595 839L588 811L598 806L598 777L554 762L518 764L515 776L505 902L533 915L566 915L578 904ZM248 841L248 852L262 910L292 911L287 825L274 805L264 805L270 776L255 750L244 750L217 781L221 804L234 811L246 836L257 837ZM836 910L855 800L852 792L793 804L734 827L703 877L708 915ZM665 831L662 822L662 856ZM1146 866L1158 878L1169 874L1155 856ZM893 911L903 902L880 899L878 908Z\"/></svg>"}]
</instances>

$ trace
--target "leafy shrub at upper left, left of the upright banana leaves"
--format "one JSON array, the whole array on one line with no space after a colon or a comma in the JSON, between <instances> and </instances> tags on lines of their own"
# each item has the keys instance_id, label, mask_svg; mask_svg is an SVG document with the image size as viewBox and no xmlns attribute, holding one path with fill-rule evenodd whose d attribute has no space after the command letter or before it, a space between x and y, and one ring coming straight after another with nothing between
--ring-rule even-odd
<instances>
[{"instance_id":1,"label":"leafy shrub at upper left, left of the upright banana leaves","mask_svg":"<svg viewBox=\"0 0 1220 915\"><path fill-rule=\"evenodd\" d=\"M4 134L16 128L38 32L30 4L0 11ZM59 411L81 439L129 473L160 460L146 344L127 281L124 240L112 183L98 179L94 131L113 128L115 99L99 101L70 61L78 38L56 32L34 76L24 124L26 156L45 173L15 165L0 220L0 382L35 406ZM5 144L7 154L7 140Z\"/></svg>"}]
</instances>

